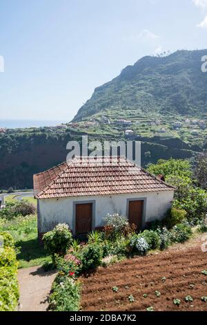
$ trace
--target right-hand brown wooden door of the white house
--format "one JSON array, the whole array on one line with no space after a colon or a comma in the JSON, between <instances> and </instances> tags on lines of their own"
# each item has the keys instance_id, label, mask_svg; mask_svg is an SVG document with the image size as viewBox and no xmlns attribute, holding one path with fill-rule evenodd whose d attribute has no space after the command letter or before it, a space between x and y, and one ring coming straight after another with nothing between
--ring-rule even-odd
<instances>
[{"instance_id":1,"label":"right-hand brown wooden door of the white house","mask_svg":"<svg viewBox=\"0 0 207 325\"><path fill-rule=\"evenodd\" d=\"M144 201L130 201L128 208L129 223L135 223L137 230L141 230Z\"/></svg>"}]
</instances>

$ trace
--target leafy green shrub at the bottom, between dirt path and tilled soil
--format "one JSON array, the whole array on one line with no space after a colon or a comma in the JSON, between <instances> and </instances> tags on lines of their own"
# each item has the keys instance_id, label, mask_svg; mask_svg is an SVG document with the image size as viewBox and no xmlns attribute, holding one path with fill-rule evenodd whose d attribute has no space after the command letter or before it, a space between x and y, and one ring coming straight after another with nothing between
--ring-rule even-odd
<instances>
[{"instance_id":1,"label":"leafy green shrub at the bottom, between dirt path and tilled soil","mask_svg":"<svg viewBox=\"0 0 207 325\"><path fill-rule=\"evenodd\" d=\"M49 297L49 310L78 311L80 306L81 284L71 277L58 275L52 284Z\"/></svg>"}]
</instances>

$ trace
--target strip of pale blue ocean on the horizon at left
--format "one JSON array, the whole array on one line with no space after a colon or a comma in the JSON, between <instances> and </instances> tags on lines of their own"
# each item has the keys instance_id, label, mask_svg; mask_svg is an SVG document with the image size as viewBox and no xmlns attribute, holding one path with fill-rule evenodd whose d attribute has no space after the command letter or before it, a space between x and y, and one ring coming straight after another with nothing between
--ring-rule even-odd
<instances>
[{"instance_id":1,"label":"strip of pale blue ocean on the horizon at left","mask_svg":"<svg viewBox=\"0 0 207 325\"><path fill-rule=\"evenodd\" d=\"M0 127L7 129L19 129L26 127L55 127L61 123L66 123L68 121L57 121L57 120L1 120Z\"/></svg>"}]
</instances>

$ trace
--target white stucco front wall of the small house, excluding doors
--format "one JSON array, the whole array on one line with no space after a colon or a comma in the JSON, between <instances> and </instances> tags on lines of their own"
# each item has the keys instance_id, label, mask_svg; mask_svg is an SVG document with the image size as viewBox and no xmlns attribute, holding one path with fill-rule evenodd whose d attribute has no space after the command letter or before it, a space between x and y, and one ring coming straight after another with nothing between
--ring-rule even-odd
<instances>
[{"instance_id":1,"label":"white stucco front wall of the small house, excluding doors","mask_svg":"<svg viewBox=\"0 0 207 325\"><path fill-rule=\"evenodd\" d=\"M95 201L93 225L103 225L106 214L119 213L128 216L129 199L145 199L143 225L155 219L162 219L166 211L172 205L174 192L148 192L139 194L118 194L112 196L84 196L79 198L52 198L38 202L38 228L39 232L48 232L58 223L67 223L74 230L75 203Z\"/></svg>"}]
</instances>

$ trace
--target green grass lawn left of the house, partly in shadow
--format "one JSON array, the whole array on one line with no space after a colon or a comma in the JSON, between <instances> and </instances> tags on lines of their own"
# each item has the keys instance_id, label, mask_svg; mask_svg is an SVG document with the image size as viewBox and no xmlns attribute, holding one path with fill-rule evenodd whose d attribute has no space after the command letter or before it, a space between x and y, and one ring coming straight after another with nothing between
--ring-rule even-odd
<instances>
[{"instance_id":1,"label":"green grass lawn left of the house, partly in shadow","mask_svg":"<svg viewBox=\"0 0 207 325\"><path fill-rule=\"evenodd\" d=\"M11 221L0 219L0 232L8 231L14 237L19 253L19 268L39 266L51 261L49 254L37 239L37 216L18 217Z\"/></svg>"}]
</instances>

